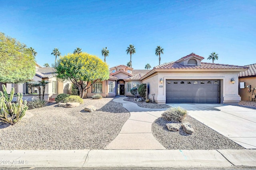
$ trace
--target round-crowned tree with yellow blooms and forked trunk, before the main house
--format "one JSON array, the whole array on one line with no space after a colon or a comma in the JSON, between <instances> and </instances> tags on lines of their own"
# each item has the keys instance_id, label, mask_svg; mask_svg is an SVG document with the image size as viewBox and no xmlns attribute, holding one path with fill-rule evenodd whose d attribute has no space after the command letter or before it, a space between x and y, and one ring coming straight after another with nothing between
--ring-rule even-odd
<instances>
[{"instance_id":1,"label":"round-crowned tree with yellow blooms and forked trunk, before the main house","mask_svg":"<svg viewBox=\"0 0 256 170\"><path fill-rule=\"evenodd\" d=\"M97 80L108 80L108 65L88 53L68 54L58 60L57 78L70 80L79 90L80 98Z\"/></svg>"}]
</instances>

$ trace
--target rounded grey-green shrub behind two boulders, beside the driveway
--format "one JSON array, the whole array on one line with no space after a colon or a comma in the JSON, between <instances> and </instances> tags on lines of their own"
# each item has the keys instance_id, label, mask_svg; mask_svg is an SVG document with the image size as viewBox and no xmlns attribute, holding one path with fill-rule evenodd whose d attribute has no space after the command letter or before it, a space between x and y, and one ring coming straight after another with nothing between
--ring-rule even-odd
<instances>
[{"instance_id":1,"label":"rounded grey-green shrub behind two boulders, beside the driveway","mask_svg":"<svg viewBox=\"0 0 256 170\"><path fill-rule=\"evenodd\" d=\"M183 109L182 107L170 107L164 113L162 113L162 117L168 121L172 121L173 123L180 123L186 117L188 111Z\"/></svg>"}]
</instances>

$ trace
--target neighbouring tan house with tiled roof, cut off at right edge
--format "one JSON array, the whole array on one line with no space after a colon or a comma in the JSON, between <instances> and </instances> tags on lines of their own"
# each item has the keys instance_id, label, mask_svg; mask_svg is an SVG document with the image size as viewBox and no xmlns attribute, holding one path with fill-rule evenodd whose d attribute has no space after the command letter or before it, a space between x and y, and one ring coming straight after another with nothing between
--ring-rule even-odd
<instances>
[{"instance_id":1,"label":"neighbouring tan house with tiled roof, cut off at right edge","mask_svg":"<svg viewBox=\"0 0 256 170\"><path fill-rule=\"evenodd\" d=\"M248 70L238 74L239 88L238 94L241 100L255 101L256 95L256 64L247 65ZM247 87L248 86L248 87Z\"/></svg>"}]
</instances>

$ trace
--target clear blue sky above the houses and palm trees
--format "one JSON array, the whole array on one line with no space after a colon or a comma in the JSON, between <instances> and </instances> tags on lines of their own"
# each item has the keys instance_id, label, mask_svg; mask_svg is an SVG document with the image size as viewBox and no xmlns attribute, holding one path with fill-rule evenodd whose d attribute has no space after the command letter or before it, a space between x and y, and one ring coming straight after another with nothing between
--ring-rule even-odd
<instances>
[{"instance_id":1,"label":"clear blue sky above the houses and palm trees","mask_svg":"<svg viewBox=\"0 0 256 170\"><path fill-rule=\"evenodd\" d=\"M38 64L54 63L76 47L97 55L108 47L110 67L158 65L155 49L164 48L161 64L190 53L215 63L256 63L256 0L0 0L0 31L34 48Z\"/></svg>"}]
</instances>

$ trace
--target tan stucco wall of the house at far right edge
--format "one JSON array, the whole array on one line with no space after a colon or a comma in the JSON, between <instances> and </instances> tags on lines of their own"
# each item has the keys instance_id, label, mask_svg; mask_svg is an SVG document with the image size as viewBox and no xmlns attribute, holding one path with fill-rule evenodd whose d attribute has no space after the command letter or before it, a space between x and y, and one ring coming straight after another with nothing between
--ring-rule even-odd
<instances>
[{"instance_id":1,"label":"tan stucco wall of the house at far right edge","mask_svg":"<svg viewBox=\"0 0 256 170\"><path fill-rule=\"evenodd\" d=\"M241 100L252 101L252 94L256 95L256 77L239 78L239 82L245 82L245 88L240 88L238 84L238 93L241 96ZM251 85L251 92L247 91L248 85Z\"/></svg>"}]
</instances>

